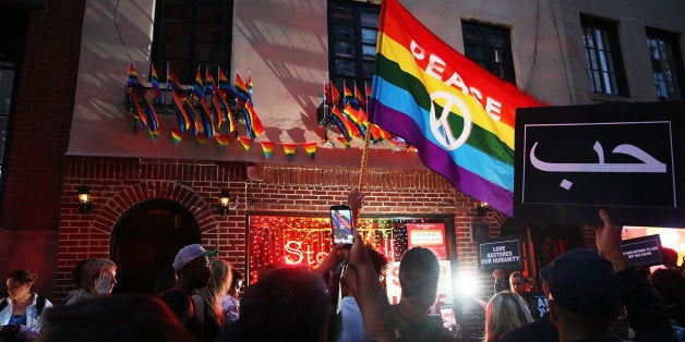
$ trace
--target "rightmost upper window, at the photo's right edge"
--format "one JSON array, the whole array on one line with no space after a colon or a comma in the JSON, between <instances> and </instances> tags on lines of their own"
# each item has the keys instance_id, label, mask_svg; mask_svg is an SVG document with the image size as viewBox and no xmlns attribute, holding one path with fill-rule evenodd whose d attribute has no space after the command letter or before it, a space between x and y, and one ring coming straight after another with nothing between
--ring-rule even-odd
<instances>
[{"instance_id":1,"label":"rightmost upper window, at the photo's right edge","mask_svg":"<svg viewBox=\"0 0 685 342\"><path fill-rule=\"evenodd\" d=\"M647 48L651 58L659 100L680 100L682 98L683 61L681 60L677 35L647 28Z\"/></svg>"}]
</instances>

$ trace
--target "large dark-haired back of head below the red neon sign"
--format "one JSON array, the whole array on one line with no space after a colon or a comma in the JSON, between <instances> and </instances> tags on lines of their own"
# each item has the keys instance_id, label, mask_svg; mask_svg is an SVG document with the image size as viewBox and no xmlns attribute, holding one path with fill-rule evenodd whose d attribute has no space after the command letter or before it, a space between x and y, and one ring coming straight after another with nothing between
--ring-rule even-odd
<instances>
[{"instance_id":1,"label":"large dark-haired back of head below the red neon sign","mask_svg":"<svg viewBox=\"0 0 685 342\"><path fill-rule=\"evenodd\" d=\"M319 341L327 321L328 295L320 273L304 268L269 269L240 302L244 341Z\"/></svg>"}]
</instances>

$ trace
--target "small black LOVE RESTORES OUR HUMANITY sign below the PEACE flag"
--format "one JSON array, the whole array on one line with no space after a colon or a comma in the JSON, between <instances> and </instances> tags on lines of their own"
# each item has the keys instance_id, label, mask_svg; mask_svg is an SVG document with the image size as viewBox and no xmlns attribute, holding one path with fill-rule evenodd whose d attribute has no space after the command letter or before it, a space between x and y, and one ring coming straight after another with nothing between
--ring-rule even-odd
<instances>
[{"instance_id":1,"label":"small black LOVE RESTORES OUR HUMANITY sign below the PEACE flag","mask_svg":"<svg viewBox=\"0 0 685 342\"><path fill-rule=\"evenodd\" d=\"M496 239L478 245L480 269L521 268L521 243L518 239Z\"/></svg>"}]
</instances>

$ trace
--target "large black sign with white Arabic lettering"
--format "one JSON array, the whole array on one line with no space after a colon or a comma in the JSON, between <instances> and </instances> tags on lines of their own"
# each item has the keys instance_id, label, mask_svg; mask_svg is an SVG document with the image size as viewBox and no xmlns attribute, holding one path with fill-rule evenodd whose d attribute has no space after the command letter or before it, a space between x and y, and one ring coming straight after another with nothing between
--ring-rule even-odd
<instances>
[{"instance_id":1,"label":"large black sign with white Arabic lettering","mask_svg":"<svg viewBox=\"0 0 685 342\"><path fill-rule=\"evenodd\" d=\"M514 218L685 225L683 102L539 107L516 113Z\"/></svg>"}]
</instances>

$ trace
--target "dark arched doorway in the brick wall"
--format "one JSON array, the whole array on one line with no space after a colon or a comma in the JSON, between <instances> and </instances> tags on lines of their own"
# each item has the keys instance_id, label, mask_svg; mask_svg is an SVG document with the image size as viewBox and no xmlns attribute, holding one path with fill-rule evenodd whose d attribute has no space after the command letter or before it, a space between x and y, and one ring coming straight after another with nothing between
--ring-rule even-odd
<instances>
[{"instance_id":1,"label":"dark arched doorway in the brick wall","mask_svg":"<svg viewBox=\"0 0 685 342\"><path fill-rule=\"evenodd\" d=\"M200 243L200 228L188 209L167 199L149 199L127 210L112 230L116 292L155 294L155 278L170 269L176 253Z\"/></svg>"}]
</instances>

